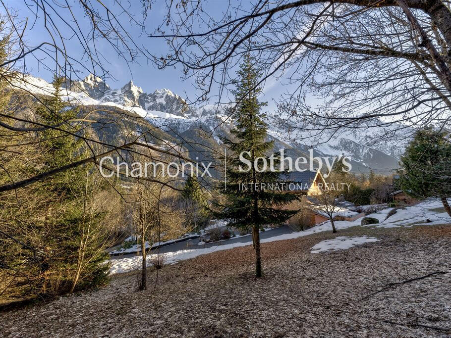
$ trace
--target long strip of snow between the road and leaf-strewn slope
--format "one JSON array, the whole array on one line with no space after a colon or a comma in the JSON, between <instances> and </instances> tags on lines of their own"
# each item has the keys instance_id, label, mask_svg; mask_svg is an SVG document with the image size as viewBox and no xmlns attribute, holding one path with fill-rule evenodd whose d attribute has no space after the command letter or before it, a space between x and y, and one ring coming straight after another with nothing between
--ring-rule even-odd
<instances>
[{"instance_id":1,"label":"long strip of snow between the road and leaf-strewn slope","mask_svg":"<svg viewBox=\"0 0 451 338\"><path fill-rule=\"evenodd\" d=\"M434 211L434 209L443 208L443 204L438 199L427 199L417 205L407 206L405 209L398 209L396 213L390 216L386 221L385 218L387 214L393 208L388 208L381 210L379 212L368 215L368 217L374 217L379 220L379 224L371 224L365 227L376 227L376 228L395 228L395 227L409 227L414 224L417 225L435 225L435 224L446 224L451 223L451 218L446 212L438 212ZM428 222L429 220L430 222ZM357 219L356 221L336 221L335 225L337 230L347 229L360 225L361 219ZM271 238L261 240L262 243L272 242L272 241L283 241L283 240L291 240L296 239L303 236L308 236L324 231L331 231L331 223L329 221L324 222L320 225L317 225L313 228L307 229L301 232L294 232L290 234L274 236ZM162 254L165 256L165 261L167 264L173 264L180 260L194 258L200 255L204 255L207 253L232 249L234 247L247 246L252 245L252 241L244 242L244 243L230 243L225 245L218 245L208 248L199 248L199 249L190 249L190 250L180 250L176 252L168 252ZM148 255L148 260L150 265L150 261L152 257L155 255ZM123 273L137 269L140 266L140 257L131 257L131 258L123 258L116 259L112 262L112 267L110 272L112 274L115 273Z\"/></svg>"}]
</instances>

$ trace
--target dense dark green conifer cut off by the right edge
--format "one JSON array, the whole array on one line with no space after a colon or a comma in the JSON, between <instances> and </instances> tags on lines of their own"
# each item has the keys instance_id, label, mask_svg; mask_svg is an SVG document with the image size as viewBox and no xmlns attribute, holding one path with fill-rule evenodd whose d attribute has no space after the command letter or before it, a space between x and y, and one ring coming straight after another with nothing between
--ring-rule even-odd
<instances>
[{"instance_id":1,"label":"dense dark green conifer cut off by the right edge","mask_svg":"<svg viewBox=\"0 0 451 338\"><path fill-rule=\"evenodd\" d=\"M451 216L451 138L433 128L418 131L401 157L402 191L415 198L439 197Z\"/></svg>"}]
</instances>

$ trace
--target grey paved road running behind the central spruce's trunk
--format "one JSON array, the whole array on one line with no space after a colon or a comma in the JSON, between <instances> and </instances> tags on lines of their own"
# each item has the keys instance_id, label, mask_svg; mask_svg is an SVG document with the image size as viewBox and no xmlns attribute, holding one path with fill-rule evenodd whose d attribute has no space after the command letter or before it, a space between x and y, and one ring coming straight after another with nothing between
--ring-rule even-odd
<instances>
[{"instance_id":1,"label":"grey paved road running behind the central spruce's trunk","mask_svg":"<svg viewBox=\"0 0 451 338\"><path fill-rule=\"evenodd\" d=\"M282 225L281 227L276 228L276 229L260 232L260 239L262 240L265 238L271 238L271 237L275 237L275 236L279 236L279 235L290 234L292 232L293 232L293 230L291 230L290 227L288 227L286 225ZM214 243L207 243L204 245L197 245L199 243L199 239L195 238L195 239L188 240L188 241L182 241L182 242L162 246L160 248L160 253L175 252L175 251L185 250L185 249L202 249L205 247L225 245L225 244L231 244L231 243L245 243L245 242L250 242L250 241L252 241L252 236L247 235L247 236L243 236L243 237L231 238L226 241L219 241L219 242L214 242ZM156 250L157 249L155 249L153 251L156 251ZM120 258L127 258L127 257L133 257L133 256L136 256L136 253L129 253L129 254L124 254L124 255L120 255L120 256L112 256L111 259L120 259Z\"/></svg>"}]
</instances>

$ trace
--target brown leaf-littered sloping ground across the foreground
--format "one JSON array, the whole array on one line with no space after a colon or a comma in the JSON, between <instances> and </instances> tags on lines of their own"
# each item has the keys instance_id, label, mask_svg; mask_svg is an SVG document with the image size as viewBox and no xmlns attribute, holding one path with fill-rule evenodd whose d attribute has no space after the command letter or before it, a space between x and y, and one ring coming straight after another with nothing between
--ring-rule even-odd
<instances>
[{"instance_id":1,"label":"brown leaf-littered sloping ground across the foreground","mask_svg":"<svg viewBox=\"0 0 451 338\"><path fill-rule=\"evenodd\" d=\"M380 241L310 253L337 236ZM451 225L350 228L199 256L149 277L0 313L1 337L451 337ZM380 290L436 271L430 277Z\"/></svg>"}]
</instances>

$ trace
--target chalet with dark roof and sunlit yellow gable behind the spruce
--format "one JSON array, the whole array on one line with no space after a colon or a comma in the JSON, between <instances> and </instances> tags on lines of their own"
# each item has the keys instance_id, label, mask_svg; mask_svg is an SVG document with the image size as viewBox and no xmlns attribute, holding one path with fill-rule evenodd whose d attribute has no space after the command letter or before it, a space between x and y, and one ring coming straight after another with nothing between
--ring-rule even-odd
<instances>
[{"instance_id":1,"label":"chalet with dark roof and sunlit yellow gable behind the spruce","mask_svg":"<svg viewBox=\"0 0 451 338\"><path fill-rule=\"evenodd\" d=\"M326 181L319 170L317 171L291 171L282 176L288 183L286 192L302 195L317 195L321 193L320 187L327 187Z\"/></svg>"}]
</instances>

